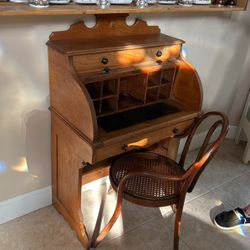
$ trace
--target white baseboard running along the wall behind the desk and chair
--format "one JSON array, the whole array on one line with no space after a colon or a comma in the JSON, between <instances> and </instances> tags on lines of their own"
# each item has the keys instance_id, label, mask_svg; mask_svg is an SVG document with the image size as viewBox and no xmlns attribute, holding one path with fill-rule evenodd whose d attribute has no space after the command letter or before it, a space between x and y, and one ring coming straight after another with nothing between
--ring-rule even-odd
<instances>
[{"instance_id":1,"label":"white baseboard running along the wall behind the desk and chair","mask_svg":"<svg viewBox=\"0 0 250 250\"><path fill-rule=\"evenodd\" d=\"M235 139L237 128L237 126L230 126L226 138ZM200 133L194 137L190 150L194 150L200 147L204 135L205 132ZM179 152L181 152L181 150L183 149L184 143L185 140L182 139L180 142ZM93 189L103 183L108 183L108 181L108 178L104 177L99 180L90 182L82 186L82 191L84 192L89 189ZM40 208L49 206L51 205L51 203L51 186L17 196L10 200L0 202L0 224L13 220L22 215L31 213Z\"/></svg>"}]
</instances>

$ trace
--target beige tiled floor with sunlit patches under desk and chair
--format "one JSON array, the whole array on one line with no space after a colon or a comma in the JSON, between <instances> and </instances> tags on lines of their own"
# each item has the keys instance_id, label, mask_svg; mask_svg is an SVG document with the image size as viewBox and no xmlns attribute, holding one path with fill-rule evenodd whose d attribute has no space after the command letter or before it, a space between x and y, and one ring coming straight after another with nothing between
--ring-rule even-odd
<instances>
[{"instance_id":1,"label":"beige tiled floor with sunlit patches under desk and chair","mask_svg":"<svg viewBox=\"0 0 250 250\"><path fill-rule=\"evenodd\" d=\"M250 165L241 163L244 145L225 141L217 156L201 176L184 206L181 250L250 249L250 227L221 231L212 223L215 214L250 202ZM189 154L192 158L195 152ZM92 235L101 200L105 202L103 221L115 205L115 193L107 187L83 193L84 216ZM105 201L106 197L106 201ZM152 209L124 202L122 216L98 249L172 249L174 216L169 208ZM103 226L103 225L102 225ZM55 211L46 207L0 225L0 249L82 249L75 234Z\"/></svg>"}]
</instances>

